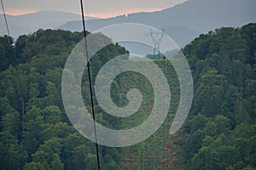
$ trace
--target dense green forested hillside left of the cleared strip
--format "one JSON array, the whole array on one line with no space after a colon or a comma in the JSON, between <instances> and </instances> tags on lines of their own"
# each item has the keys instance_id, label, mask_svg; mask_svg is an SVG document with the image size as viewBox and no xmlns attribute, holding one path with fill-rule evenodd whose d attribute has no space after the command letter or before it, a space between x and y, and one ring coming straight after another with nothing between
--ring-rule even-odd
<instances>
[{"instance_id":1,"label":"dense green forested hillside left of the cleared strip","mask_svg":"<svg viewBox=\"0 0 256 170\"><path fill-rule=\"evenodd\" d=\"M8 37L0 38L0 169L97 169L95 144L73 128L61 101L62 70L83 35L38 30L20 36L14 48ZM96 42L107 38L98 37ZM109 45L98 55L108 60L125 53L125 48ZM119 156L103 152L102 168L118 169Z\"/></svg>"}]
</instances>

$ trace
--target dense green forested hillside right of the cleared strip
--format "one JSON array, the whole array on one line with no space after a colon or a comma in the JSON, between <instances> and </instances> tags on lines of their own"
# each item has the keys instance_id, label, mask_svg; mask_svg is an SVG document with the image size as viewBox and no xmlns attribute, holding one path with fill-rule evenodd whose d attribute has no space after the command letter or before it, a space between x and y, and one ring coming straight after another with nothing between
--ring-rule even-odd
<instances>
[{"instance_id":1,"label":"dense green forested hillside right of the cleared strip","mask_svg":"<svg viewBox=\"0 0 256 170\"><path fill-rule=\"evenodd\" d=\"M179 132L187 169L256 168L256 25L220 28L183 49L195 82Z\"/></svg>"}]
</instances>

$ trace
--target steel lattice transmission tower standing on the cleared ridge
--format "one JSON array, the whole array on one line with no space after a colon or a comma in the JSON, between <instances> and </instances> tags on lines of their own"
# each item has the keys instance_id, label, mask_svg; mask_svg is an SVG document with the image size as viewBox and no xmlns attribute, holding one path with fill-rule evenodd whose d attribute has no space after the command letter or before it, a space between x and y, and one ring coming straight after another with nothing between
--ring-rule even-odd
<instances>
[{"instance_id":1,"label":"steel lattice transmission tower standing on the cleared ridge","mask_svg":"<svg viewBox=\"0 0 256 170\"><path fill-rule=\"evenodd\" d=\"M165 35L164 31L154 32L150 30L150 36L154 43L154 57L156 59L160 59L160 43L162 42L164 35Z\"/></svg>"}]
</instances>

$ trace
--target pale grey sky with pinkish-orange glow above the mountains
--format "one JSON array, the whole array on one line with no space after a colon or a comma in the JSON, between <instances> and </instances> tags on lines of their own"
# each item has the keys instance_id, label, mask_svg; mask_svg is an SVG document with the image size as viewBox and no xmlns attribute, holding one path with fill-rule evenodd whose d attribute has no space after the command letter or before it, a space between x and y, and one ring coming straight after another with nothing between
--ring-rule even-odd
<instances>
[{"instance_id":1,"label":"pale grey sky with pinkish-orange glow above the mountains","mask_svg":"<svg viewBox=\"0 0 256 170\"><path fill-rule=\"evenodd\" d=\"M85 14L107 18L119 14L149 12L172 7L186 0L84 0ZM80 13L80 0L3 0L7 14L27 14L40 10ZM1 11L2 12L2 8Z\"/></svg>"}]
</instances>

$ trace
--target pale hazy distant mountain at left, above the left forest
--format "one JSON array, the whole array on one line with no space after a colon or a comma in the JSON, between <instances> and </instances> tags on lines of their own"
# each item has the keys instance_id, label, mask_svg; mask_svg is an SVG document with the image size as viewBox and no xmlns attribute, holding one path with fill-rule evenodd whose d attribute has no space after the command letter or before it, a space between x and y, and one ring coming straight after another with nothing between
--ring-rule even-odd
<instances>
[{"instance_id":1,"label":"pale hazy distant mountain at left, above the left forest","mask_svg":"<svg viewBox=\"0 0 256 170\"><path fill-rule=\"evenodd\" d=\"M55 29L68 21L81 20L79 14L72 14L59 11L40 11L32 14L21 15L6 15L9 30L12 37L18 37L21 34L31 33L42 29ZM96 19L92 17L85 17L86 20ZM82 25L81 25L82 26ZM6 26L4 23L3 14L0 14L0 35L7 34Z\"/></svg>"}]
</instances>

